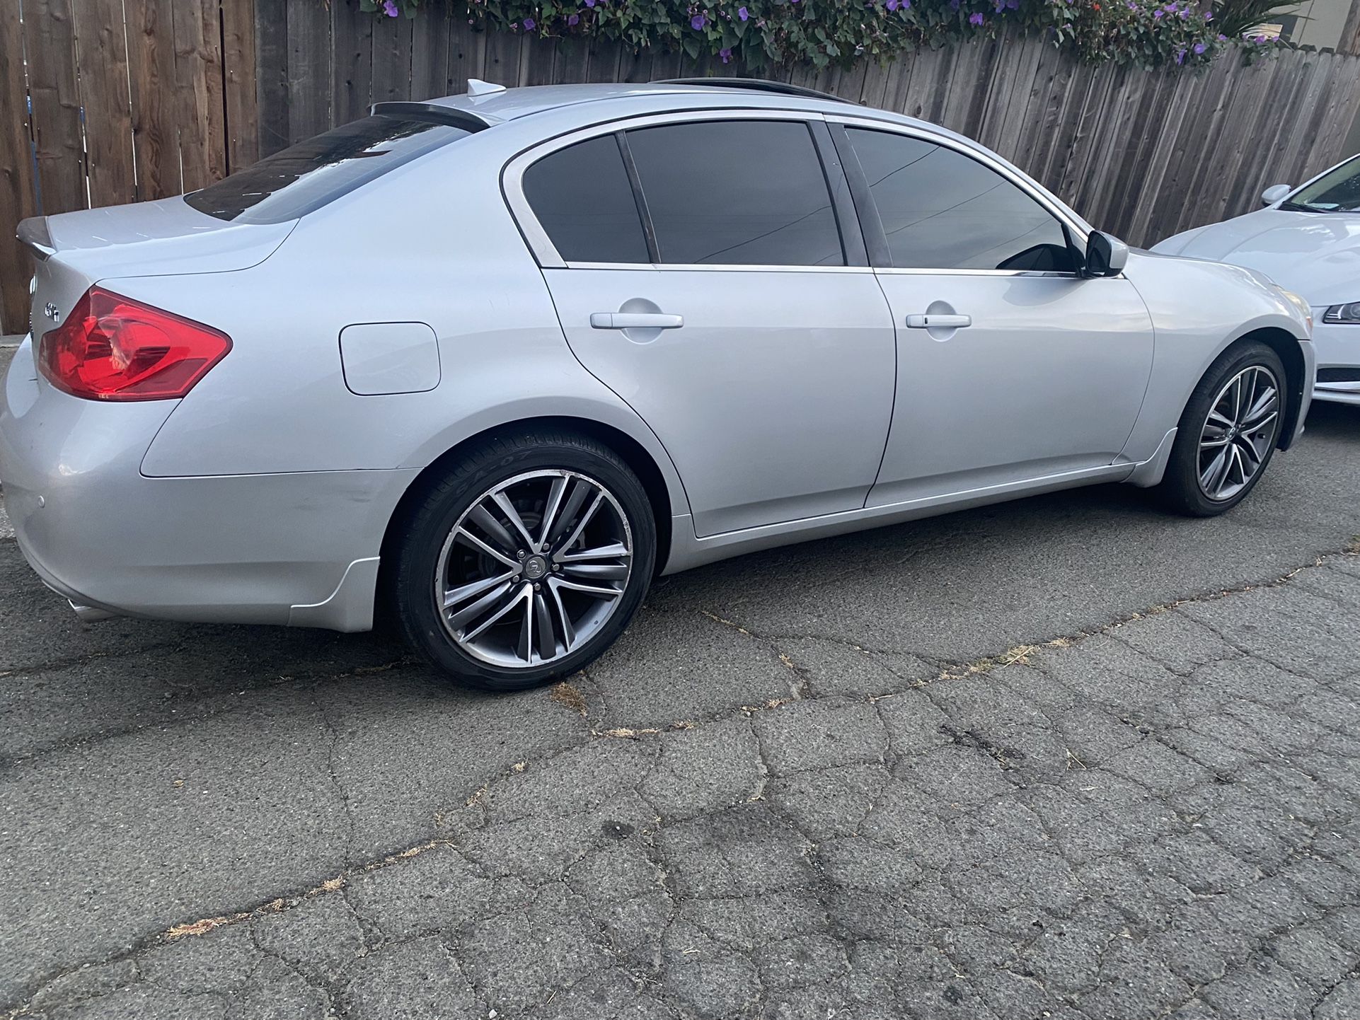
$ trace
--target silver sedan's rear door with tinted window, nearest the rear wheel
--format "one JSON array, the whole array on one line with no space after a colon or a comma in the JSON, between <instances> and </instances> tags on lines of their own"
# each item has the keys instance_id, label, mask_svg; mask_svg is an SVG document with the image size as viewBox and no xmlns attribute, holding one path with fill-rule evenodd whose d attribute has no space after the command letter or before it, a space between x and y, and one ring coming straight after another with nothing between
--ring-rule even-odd
<instances>
[{"instance_id":1,"label":"silver sedan's rear door with tinted window, nearest the rear wheel","mask_svg":"<svg viewBox=\"0 0 1360 1020\"><path fill-rule=\"evenodd\" d=\"M573 352L665 445L699 536L860 509L873 486L895 335L835 160L820 121L725 110L507 167Z\"/></svg>"}]
</instances>

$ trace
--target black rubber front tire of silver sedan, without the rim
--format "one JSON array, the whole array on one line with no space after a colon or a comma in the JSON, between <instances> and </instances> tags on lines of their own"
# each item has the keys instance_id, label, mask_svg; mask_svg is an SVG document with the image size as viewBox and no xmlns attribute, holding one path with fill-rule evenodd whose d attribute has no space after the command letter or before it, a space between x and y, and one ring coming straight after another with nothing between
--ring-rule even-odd
<instances>
[{"instance_id":1,"label":"black rubber front tire of silver sedan, without the rim","mask_svg":"<svg viewBox=\"0 0 1360 1020\"><path fill-rule=\"evenodd\" d=\"M1269 370L1278 386L1276 416L1270 426L1269 442L1263 443L1259 466L1246 484L1227 498L1214 499L1205 492L1205 488L1200 483L1201 435L1204 435L1209 412L1213 409L1214 401L1223 392L1223 388L1239 373L1253 366ZM1280 428L1284 422L1287 397L1288 375L1285 374L1284 364L1280 360L1280 355L1266 344L1258 340L1248 340L1234 344L1219 355L1219 359L1209 366L1204 378L1200 379L1200 385L1194 388L1186 409L1180 415L1175 445L1171 447L1171 458L1167 461L1167 472L1157 487L1157 495L1163 505L1187 517L1217 517L1246 499L1266 473L1270 458L1274 456L1276 445L1280 442Z\"/></svg>"}]
</instances>

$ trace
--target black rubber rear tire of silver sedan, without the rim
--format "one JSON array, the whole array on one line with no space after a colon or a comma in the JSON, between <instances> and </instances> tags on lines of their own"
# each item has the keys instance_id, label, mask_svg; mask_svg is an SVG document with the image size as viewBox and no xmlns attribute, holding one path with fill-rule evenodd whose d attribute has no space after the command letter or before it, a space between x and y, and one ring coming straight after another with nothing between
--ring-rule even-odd
<instances>
[{"instance_id":1,"label":"black rubber rear tire of silver sedan, without the rim","mask_svg":"<svg viewBox=\"0 0 1360 1020\"><path fill-rule=\"evenodd\" d=\"M454 641L435 604L435 579L442 570L445 543L464 514L498 484L534 471L575 472L613 495L632 539L631 571L622 582L623 593L612 615L579 647L554 661L503 666L481 661ZM525 431L492 438L469 450L413 505L397 545L389 597L397 626L411 646L461 685L524 691L575 673L623 634L651 583L657 526L642 483L608 446L574 432Z\"/></svg>"}]
</instances>

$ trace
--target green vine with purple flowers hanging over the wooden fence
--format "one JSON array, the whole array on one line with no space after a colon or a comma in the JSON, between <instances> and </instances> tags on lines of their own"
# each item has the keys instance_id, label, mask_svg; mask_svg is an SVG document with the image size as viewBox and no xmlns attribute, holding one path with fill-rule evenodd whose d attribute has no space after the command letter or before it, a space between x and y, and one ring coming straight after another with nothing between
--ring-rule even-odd
<instances>
[{"instance_id":1,"label":"green vine with purple flowers hanging over the wooden fence","mask_svg":"<svg viewBox=\"0 0 1360 1020\"><path fill-rule=\"evenodd\" d=\"M423 0L359 0L378 16L415 16ZM428 3L428 0L424 0ZM634 49L683 50L751 71L889 60L922 46L994 38L1015 26L1047 34L1091 63L1206 64L1229 45L1195 0L454 0L480 29L600 37Z\"/></svg>"}]
</instances>

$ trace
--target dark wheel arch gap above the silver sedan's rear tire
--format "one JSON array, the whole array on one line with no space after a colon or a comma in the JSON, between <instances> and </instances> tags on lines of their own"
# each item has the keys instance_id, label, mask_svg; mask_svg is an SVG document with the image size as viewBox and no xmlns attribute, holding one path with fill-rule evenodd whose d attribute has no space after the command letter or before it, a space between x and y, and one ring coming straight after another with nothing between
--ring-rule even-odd
<instances>
[{"instance_id":1,"label":"dark wheel arch gap above the silver sedan's rear tire","mask_svg":"<svg viewBox=\"0 0 1360 1020\"><path fill-rule=\"evenodd\" d=\"M665 568L666 560L670 558L673 526L670 518L676 514L687 513L687 509L683 505L679 507L676 506L666 475L661 469L656 457L650 450L647 450L646 446L616 426L570 415L543 415L488 426L479 432L460 439L454 446L435 457L428 465L426 465L424 469L420 471L419 475L415 476L415 479L411 480L411 484L407 486L405 492L401 494L392 515L388 518L388 526L382 534L382 549L378 560L379 592L384 588L386 570L394 562L394 543L401 536L403 524L409 518L412 509L419 505L422 496L428 492L430 486L443 477L453 464L456 464L466 454L468 450L479 443L486 442L495 435L537 428L571 431L589 437L600 443L604 443L623 458L624 464L627 464L632 473L638 476L643 491L647 494L647 502L651 505L651 514L656 518L657 525L657 563L654 577L661 574Z\"/></svg>"}]
</instances>

